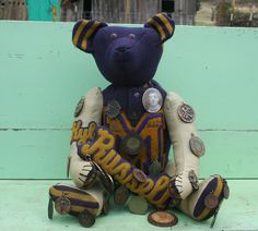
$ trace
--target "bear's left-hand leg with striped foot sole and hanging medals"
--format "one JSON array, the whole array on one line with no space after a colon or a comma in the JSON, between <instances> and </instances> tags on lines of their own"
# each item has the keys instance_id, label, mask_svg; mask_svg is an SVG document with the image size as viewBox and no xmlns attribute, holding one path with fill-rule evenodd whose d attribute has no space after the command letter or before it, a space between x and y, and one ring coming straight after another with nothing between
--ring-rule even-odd
<instances>
[{"instance_id":1,"label":"bear's left-hand leg with striped foot sole and hanging medals","mask_svg":"<svg viewBox=\"0 0 258 231\"><path fill-rule=\"evenodd\" d=\"M87 190L56 184L49 189L49 205L54 203L58 214L77 216L84 227L93 226L96 216L108 211L108 194L99 184ZM51 209L48 212L51 219Z\"/></svg>"}]
</instances>

